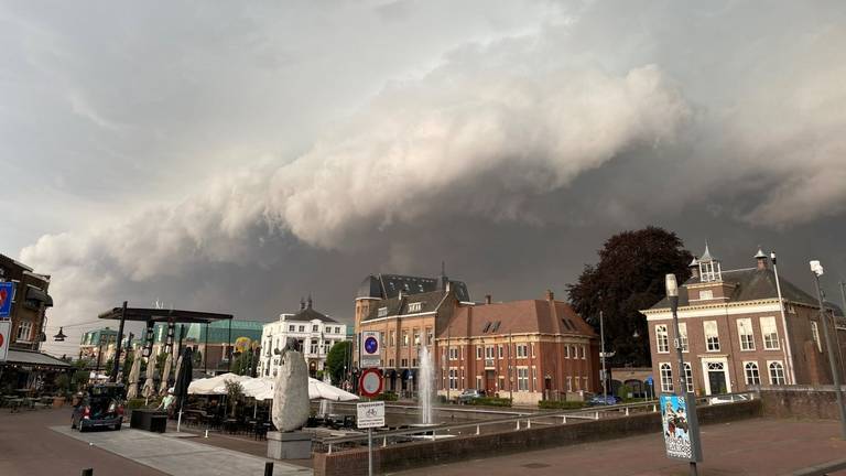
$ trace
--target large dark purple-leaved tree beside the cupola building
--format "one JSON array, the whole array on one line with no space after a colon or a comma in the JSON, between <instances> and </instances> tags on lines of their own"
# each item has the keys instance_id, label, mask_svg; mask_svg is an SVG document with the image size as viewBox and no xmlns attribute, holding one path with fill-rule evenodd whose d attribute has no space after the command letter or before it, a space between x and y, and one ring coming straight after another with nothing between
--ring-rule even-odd
<instances>
[{"instance_id":1,"label":"large dark purple-leaved tree beside the cupola building","mask_svg":"<svg viewBox=\"0 0 846 476\"><path fill-rule=\"evenodd\" d=\"M666 273L687 280L692 259L682 240L663 228L622 231L608 238L597 264L586 264L567 285L571 304L597 333L603 311L605 349L615 353L610 365L651 365L647 320L639 311L664 298Z\"/></svg>"}]
</instances>

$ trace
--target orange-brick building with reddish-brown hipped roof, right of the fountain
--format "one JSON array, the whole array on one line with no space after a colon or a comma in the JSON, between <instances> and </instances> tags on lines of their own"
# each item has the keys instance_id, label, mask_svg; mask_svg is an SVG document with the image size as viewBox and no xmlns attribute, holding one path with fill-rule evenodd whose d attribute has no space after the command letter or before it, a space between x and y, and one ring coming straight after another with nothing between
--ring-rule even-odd
<instances>
[{"instance_id":1,"label":"orange-brick building with reddish-brown hipped roof, right of the fountain","mask_svg":"<svg viewBox=\"0 0 846 476\"><path fill-rule=\"evenodd\" d=\"M438 393L447 398L473 388L536 404L598 390L598 336L551 291L542 300L458 304L436 344Z\"/></svg>"}]
</instances>

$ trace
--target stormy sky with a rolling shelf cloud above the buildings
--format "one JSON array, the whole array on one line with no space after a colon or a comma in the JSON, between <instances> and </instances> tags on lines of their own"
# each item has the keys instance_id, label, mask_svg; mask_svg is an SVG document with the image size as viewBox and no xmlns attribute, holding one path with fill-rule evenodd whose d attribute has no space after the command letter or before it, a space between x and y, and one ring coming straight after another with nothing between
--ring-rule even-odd
<instances>
[{"instance_id":1,"label":"stormy sky with a rolling shelf cloud above the buildings","mask_svg":"<svg viewBox=\"0 0 846 476\"><path fill-rule=\"evenodd\" d=\"M55 354L123 300L351 322L369 273L565 298L648 225L846 280L846 4L0 1L0 252Z\"/></svg>"}]
</instances>

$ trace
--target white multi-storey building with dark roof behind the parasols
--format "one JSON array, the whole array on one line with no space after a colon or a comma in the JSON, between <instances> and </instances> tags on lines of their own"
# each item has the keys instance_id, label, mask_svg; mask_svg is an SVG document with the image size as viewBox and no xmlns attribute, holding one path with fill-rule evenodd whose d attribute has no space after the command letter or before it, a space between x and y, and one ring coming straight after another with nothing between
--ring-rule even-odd
<instances>
[{"instance_id":1,"label":"white multi-storey building with dark roof behind the parasols","mask_svg":"<svg viewBox=\"0 0 846 476\"><path fill-rule=\"evenodd\" d=\"M311 298L300 303L296 314L280 314L279 321L264 324L261 333L260 376L275 377L289 338L300 343L308 372L314 376L323 370L332 346L347 338L347 325L315 311Z\"/></svg>"}]
</instances>

